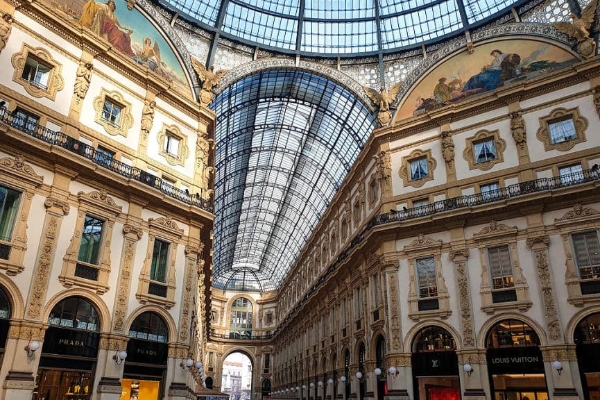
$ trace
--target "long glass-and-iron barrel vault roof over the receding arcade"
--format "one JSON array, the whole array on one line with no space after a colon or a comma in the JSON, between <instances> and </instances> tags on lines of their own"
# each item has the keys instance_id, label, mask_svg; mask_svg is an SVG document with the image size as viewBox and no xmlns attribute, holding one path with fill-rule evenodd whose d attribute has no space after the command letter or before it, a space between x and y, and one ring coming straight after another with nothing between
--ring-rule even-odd
<instances>
[{"instance_id":1,"label":"long glass-and-iron barrel vault roof over the receding arcade","mask_svg":"<svg viewBox=\"0 0 600 400\"><path fill-rule=\"evenodd\" d=\"M280 288L375 127L353 94L265 71L218 94L213 285Z\"/></svg>"}]
</instances>

